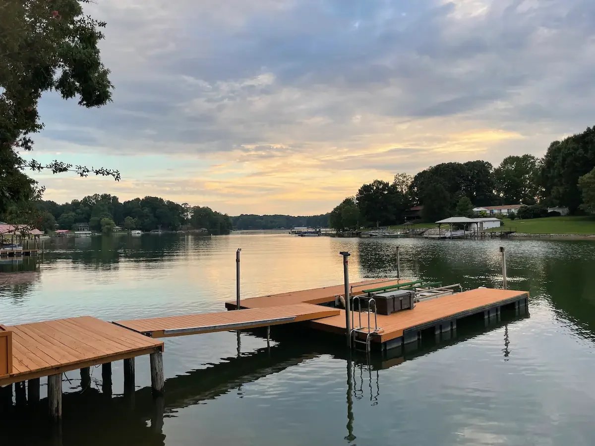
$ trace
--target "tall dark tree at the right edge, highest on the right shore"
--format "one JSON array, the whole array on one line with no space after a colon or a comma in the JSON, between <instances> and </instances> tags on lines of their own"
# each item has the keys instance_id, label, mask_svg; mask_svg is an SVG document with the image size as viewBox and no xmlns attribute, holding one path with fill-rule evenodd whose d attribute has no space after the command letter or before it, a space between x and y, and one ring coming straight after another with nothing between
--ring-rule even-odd
<instances>
[{"instance_id":1,"label":"tall dark tree at the right edge, highest on the right shore","mask_svg":"<svg viewBox=\"0 0 595 446\"><path fill-rule=\"evenodd\" d=\"M541 168L541 184L548 205L568 206L571 213L576 212L583 203L578 178L593 168L595 127L550 144Z\"/></svg>"}]
</instances>

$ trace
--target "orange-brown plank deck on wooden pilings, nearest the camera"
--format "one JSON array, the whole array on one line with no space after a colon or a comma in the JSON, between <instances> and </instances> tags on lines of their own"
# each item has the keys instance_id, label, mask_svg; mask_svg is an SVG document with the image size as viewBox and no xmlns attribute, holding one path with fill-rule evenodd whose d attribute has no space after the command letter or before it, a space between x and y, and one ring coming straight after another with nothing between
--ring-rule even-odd
<instances>
[{"instance_id":1,"label":"orange-brown plank deck on wooden pilings, nearest the camera","mask_svg":"<svg viewBox=\"0 0 595 446\"><path fill-rule=\"evenodd\" d=\"M7 325L12 373L0 385L162 351L163 343L91 316Z\"/></svg>"}]
</instances>

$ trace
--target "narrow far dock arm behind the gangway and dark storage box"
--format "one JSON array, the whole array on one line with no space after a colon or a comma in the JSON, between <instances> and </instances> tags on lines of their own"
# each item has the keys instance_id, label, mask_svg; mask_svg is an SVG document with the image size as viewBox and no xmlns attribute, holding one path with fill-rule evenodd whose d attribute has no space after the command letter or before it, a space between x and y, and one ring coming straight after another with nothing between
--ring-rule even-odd
<instances>
[{"instance_id":1,"label":"narrow far dock arm behind the gangway and dark storage box","mask_svg":"<svg viewBox=\"0 0 595 446\"><path fill-rule=\"evenodd\" d=\"M364 280L361 282L353 282L350 287L357 287L353 289L352 294L361 294L363 290L376 287L387 287L389 285L396 285L399 283L411 282L409 279L373 279ZM377 285L375 285L377 284ZM262 308L279 305L288 305L295 303L311 303L321 304L333 302L334 297L339 294L345 294L345 284L332 285L330 287L313 288L312 290L290 291L289 293L268 294L267 296L250 297L249 299L240 300L240 307L242 308ZM235 310L237 303L235 300L228 301L225 304L228 310Z\"/></svg>"}]
</instances>

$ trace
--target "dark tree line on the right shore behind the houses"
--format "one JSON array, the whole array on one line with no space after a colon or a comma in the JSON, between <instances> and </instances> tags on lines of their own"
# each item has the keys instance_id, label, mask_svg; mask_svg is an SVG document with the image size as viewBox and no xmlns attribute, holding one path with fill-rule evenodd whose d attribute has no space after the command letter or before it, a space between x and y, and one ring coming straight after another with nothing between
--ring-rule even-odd
<instances>
[{"instance_id":1,"label":"dark tree line on the right shore behind the houses","mask_svg":"<svg viewBox=\"0 0 595 446\"><path fill-rule=\"evenodd\" d=\"M507 156L497 167L487 161L447 162L415 176L375 180L347 197L330 214L337 230L401 224L412 206L422 219L470 215L473 207L522 204L523 215L547 215L548 206L571 214L595 212L595 127L550 144L543 158Z\"/></svg>"}]
</instances>

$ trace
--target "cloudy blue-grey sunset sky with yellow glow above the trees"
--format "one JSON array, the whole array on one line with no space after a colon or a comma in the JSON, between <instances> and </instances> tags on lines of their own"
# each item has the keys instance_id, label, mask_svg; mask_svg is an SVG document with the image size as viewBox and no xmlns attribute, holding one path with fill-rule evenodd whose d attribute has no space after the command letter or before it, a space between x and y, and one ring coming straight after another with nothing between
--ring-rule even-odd
<instances>
[{"instance_id":1,"label":"cloudy blue-grey sunset sky with yellow glow above the trees","mask_svg":"<svg viewBox=\"0 0 595 446\"><path fill-rule=\"evenodd\" d=\"M45 199L330 211L440 162L543 156L594 124L592 0L95 0L113 102L40 102Z\"/></svg>"}]
</instances>

